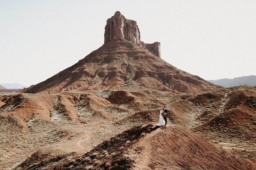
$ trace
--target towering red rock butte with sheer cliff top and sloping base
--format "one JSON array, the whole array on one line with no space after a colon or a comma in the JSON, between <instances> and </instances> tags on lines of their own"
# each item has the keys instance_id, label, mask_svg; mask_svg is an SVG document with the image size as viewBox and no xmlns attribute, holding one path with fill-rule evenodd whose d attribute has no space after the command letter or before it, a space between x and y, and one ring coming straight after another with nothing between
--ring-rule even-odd
<instances>
[{"instance_id":1,"label":"towering red rock butte with sheer cliff top and sloping base","mask_svg":"<svg viewBox=\"0 0 256 170\"><path fill-rule=\"evenodd\" d=\"M219 87L162 60L160 43L140 41L136 21L126 19L119 11L107 20L104 38L103 46L75 65L22 92L156 89L200 93Z\"/></svg>"}]
</instances>

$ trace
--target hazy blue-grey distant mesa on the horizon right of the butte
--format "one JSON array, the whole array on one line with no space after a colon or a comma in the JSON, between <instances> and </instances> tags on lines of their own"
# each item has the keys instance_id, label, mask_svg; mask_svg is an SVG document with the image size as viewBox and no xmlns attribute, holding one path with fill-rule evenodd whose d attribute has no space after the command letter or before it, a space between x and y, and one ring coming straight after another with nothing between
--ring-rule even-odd
<instances>
[{"instance_id":1,"label":"hazy blue-grey distant mesa on the horizon right of the butte","mask_svg":"<svg viewBox=\"0 0 256 170\"><path fill-rule=\"evenodd\" d=\"M239 85L256 86L256 75L236 77L234 79L207 80L213 84L223 87L233 87Z\"/></svg>"}]
</instances>

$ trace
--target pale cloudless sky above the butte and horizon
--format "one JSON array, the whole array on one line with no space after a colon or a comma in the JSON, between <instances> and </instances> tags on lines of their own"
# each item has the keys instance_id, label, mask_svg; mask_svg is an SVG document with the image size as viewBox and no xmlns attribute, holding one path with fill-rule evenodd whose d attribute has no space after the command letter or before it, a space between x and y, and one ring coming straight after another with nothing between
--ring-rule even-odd
<instances>
[{"instance_id":1,"label":"pale cloudless sky above the butte and horizon","mask_svg":"<svg viewBox=\"0 0 256 170\"><path fill-rule=\"evenodd\" d=\"M205 80L256 75L255 0L0 0L0 83L30 86L83 59L103 45L115 11L181 70Z\"/></svg>"}]
</instances>

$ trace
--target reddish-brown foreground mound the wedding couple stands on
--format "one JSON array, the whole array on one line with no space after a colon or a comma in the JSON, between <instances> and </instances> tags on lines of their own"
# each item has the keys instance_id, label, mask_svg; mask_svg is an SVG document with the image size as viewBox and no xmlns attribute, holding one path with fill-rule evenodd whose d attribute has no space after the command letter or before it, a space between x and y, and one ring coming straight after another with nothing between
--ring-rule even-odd
<instances>
[{"instance_id":1,"label":"reddish-brown foreground mound the wedding couple stands on","mask_svg":"<svg viewBox=\"0 0 256 170\"><path fill-rule=\"evenodd\" d=\"M38 157L35 153L16 169L256 168L255 163L215 147L180 125L158 129L153 124L133 127L84 155L59 155L49 159L48 154Z\"/></svg>"}]
</instances>

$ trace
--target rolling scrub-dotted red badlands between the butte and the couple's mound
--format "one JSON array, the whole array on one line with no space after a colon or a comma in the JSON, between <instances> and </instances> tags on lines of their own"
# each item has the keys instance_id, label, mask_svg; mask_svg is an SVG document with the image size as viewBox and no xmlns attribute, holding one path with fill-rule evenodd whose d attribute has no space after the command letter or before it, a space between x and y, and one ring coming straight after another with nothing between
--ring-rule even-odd
<instances>
[{"instance_id":1,"label":"rolling scrub-dotted red badlands between the butte and the couple's mound","mask_svg":"<svg viewBox=\"0 0 256 170\"><path fill-rule=\"evenodd\" d=\"M255 160L255 99L256 87L251 86L194 95L157 90L1 93L0 165L18 165L17 158L45 149L50 155L81 154L127 128L158 122L163 105L171 111L168 124L183 125L217 147Z\"/></svg>"}]
</instances>

